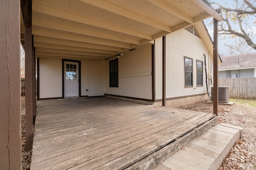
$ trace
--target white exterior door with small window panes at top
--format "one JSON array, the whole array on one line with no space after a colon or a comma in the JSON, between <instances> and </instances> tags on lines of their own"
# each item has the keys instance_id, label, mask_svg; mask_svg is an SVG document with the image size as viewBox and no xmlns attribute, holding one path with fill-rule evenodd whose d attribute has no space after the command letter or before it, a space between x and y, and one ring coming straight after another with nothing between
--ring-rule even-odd
<instances>
[{"instance_id":1,"label":"white exterior door with small window panes at top","mask_svg":"<svg viewBox=\"0 0 256 170\"><path fill-rule=\"evenodd\" d=\"M64 61L64 97L79 96L78 63Z\"/></svg>"}]
</instances>

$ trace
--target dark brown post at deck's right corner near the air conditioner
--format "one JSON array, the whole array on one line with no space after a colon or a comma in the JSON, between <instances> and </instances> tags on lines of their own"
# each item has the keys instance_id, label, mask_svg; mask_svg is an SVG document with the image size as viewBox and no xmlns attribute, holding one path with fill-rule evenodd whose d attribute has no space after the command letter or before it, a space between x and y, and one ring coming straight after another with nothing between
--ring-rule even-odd
<instances>
[{"instance_id":1,"label":"dark brown post at deck's right corner near the air conditioner","mask_svg":"<svg viewBox=\"0 0 256 170\"><path fill-rule=\"evenodd\" d=\"M218 20L213 20L213 113L218 116Z\"/></svg>"}]
</instances>

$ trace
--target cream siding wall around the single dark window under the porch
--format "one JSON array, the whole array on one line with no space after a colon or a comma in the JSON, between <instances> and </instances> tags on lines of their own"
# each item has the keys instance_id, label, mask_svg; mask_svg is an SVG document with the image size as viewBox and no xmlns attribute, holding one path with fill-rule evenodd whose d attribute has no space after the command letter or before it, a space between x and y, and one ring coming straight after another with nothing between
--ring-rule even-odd
<instances>
[{"instance_id":1,"label":"cream siding wall around the single dark window under the porch","mask_svg":"<svg viewBox=\"0 0 256 170\"><path fill-rule=\"evenodd\" d=\"M152 99L151 45L125 53L118 59L118 88L109 87L109 61L106 62L106 93Z\"/></svg>"}]
</instances>

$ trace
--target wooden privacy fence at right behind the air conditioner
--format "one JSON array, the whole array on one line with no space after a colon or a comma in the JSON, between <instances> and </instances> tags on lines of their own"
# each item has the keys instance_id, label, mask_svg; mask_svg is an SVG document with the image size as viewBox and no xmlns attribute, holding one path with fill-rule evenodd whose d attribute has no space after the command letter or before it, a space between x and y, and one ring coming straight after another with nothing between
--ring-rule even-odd
<instances>
[{"instance_id":1,"label":"wooden privacy fence at right behind the air conditioner","mask_svg":"<svg viewBox=\"0 0 256 170\"><path fill-rule=\"evenodd\" d=\"M229 98L256 100L256 78L219 78L219 86L228 86Z\"/></svg>"}]
</instances>

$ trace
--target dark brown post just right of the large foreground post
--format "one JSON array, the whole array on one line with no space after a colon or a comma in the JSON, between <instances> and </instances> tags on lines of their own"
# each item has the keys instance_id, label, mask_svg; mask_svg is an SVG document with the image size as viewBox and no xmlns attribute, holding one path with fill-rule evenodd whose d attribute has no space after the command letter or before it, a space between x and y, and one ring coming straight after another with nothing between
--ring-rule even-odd
<instances>
[{"instance_id":1,"label":"dark brown post just right of the large foreground post","mask_svg":"<svg viewBox=\"0 0 256 170\"><path fill-rule=\"evenodd\" d=\"M33 145L33 63L32 55L32 0L24 0L25 20L25 78L26 78L26 150Z\"/></svg>"}]
</instances>

